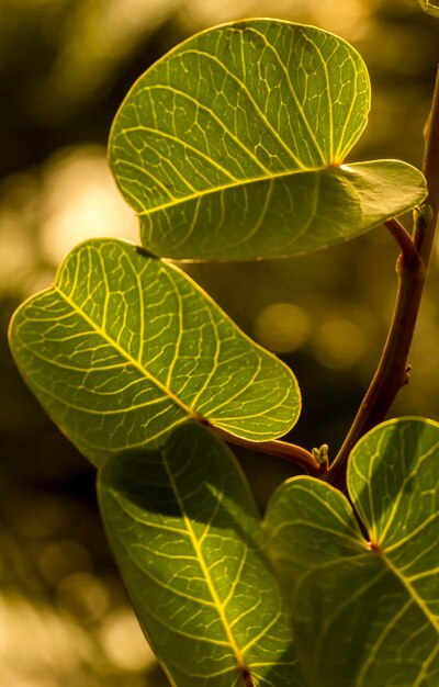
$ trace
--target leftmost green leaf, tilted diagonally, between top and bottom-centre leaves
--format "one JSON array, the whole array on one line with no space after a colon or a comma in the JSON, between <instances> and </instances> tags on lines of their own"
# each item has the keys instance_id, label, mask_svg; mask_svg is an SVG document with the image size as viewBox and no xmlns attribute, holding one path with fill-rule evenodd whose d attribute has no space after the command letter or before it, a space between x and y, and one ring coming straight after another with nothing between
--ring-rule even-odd
<instances>
[{"instance_id":1,"label":"leftmost green leaf, tilted diagonally, between top and bottom-centre leaves","mask_svg":"<svg viewBox=\"0 0 439 687\"><path fill-rule=\"evenodd\" d=\"M11 325L16 364L90 460L144 446L188 417L255 441L300 413L291 371L184 273L136 246L82 244Z\"/></svg>"}]
</instances>

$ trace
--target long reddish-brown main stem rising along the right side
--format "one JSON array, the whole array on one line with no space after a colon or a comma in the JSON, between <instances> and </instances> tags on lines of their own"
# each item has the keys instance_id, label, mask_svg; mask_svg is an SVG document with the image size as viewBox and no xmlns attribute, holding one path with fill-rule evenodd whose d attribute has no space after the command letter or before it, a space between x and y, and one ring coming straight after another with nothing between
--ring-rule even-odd
<instances>
[{"instance_id":1,"label":"long reddish-brown main stem rising along the right side","mask_svg":"<svg viewBox=\"0 0 439 687\"><path fill-rule=\"evenodd\" d=\"M402 249L396 262L398 274L396 304L371 385L338 455L324 476L324 480L341 491L346 489L346 468L352 448L367 431L385 419L398 391L408 383L408 352L435 240L439 209L439 70L427 128L424 174L428 195L415 216L413 246L409 246L407 237L401 232L399 223L391 221L390 226L386 223ZM423 212L427 205L431 210Z\"/></svg>"}]
</instances>

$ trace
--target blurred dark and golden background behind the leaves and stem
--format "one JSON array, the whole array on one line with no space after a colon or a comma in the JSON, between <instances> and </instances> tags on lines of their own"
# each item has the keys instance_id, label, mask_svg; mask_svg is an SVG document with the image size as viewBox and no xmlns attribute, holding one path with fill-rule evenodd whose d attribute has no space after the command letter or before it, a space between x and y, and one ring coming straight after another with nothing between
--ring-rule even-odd
<instances>
[{"instance_id":1,"label":"blurred dark and golden background behind the leaves and stem","mask_svg":"<svg viewBox=\"0 0 439 687\"><path fill-rule=\"evenodd\" d=\"M14 369L8 322L80 240L137 240L105 144L125 92L176 43L246 16L312 23L351 42L372 80L370 124L350 160L421 165L439 23L416 0L1 0L0 674L2 687L160 687L106 547L94 470ZM409 218L407 218L409 223ZM408 225L407 225L408 226ZM326 252L187 266L254 338L292 365L303 414L291 440L334 455L380 356L396 246L380 228ZM392 414L439 415L439 256L412 382ZM260 507L290 465L241 453Z\"/></svg>"}]
</instances>

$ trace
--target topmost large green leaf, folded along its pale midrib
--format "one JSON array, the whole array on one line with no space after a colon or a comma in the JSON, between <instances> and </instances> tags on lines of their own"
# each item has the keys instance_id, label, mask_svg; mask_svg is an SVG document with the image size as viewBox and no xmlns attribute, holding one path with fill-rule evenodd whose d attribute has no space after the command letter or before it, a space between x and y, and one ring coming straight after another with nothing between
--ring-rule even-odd
<instances>
[{"instance_id":1,"label":"topmost large green leaf, folded along its pale midrib","mask_svg":"<svg viewBox=\"0 0 439 687\"><path fill-rule=\"evenodd\" d=\"M273 258L419 204L405 162L341 166L369 101L361 57L313 26L241 21L182 43L134 85L110 138L142 241L176 259Z\"/></svg>"}]
</instances>

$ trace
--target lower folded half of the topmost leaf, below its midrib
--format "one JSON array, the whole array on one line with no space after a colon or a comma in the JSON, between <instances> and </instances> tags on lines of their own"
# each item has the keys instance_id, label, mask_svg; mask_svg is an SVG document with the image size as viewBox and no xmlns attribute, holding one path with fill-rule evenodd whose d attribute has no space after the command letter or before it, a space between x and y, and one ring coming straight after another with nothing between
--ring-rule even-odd
<instances>
[{"instance_id":1,"label":"lower folded half of the topmost leaf, below its midrib","mask_svg":"<svg viewBox=\"0 0 439 687\"><path fill-rule=\"evenodd\" d=\"M424 178L417 169L397 160L375 160L199 193L140 213L140 235L153 251L177 260L299 256L370 232L424 196ZM202 198L210 210L195 241L193 227L203 212Z\"/></svg>"}]
</instances>

